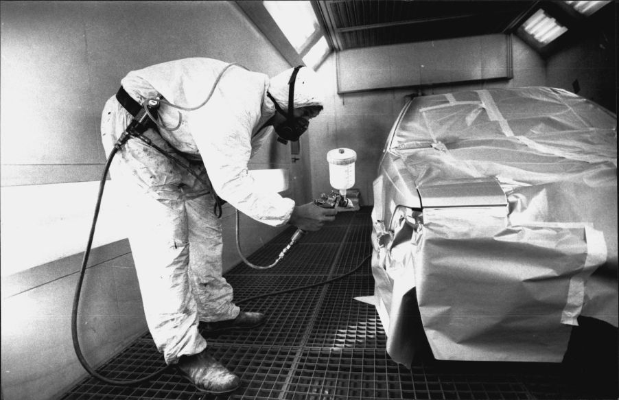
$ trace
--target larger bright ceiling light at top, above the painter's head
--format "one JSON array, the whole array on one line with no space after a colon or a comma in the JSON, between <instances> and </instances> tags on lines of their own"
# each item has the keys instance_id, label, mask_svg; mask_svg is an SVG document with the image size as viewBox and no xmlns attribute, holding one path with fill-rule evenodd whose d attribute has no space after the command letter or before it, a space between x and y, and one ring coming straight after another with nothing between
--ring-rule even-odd
<instances>
[{"instance_id":1,"label":"larger bright ceiling light at top, above the painter's head","mask_svg":"<svg viewBox=\"0 0 619 400\"><path fill-rule=\"evenodd\" d=\"M265 0L262 3L298 53L310 36L320 29L309 1Z\"/></svg>"}]
</instances>

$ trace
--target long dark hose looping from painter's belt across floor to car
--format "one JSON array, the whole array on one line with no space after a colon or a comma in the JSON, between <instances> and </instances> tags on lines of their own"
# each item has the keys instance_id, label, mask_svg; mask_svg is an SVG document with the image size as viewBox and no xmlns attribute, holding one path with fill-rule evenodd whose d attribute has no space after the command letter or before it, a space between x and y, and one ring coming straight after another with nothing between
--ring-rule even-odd
<instances>
[{"instance_id":1,"label":"long dark hose looping from painter's belt across floor to car","mask_svg":"<svg viewBox=\"0 0 619 400\"><path fill-rule=\"evenodd\" d=\"M108 377L104 377L100 373L97 373L97 371L95 371L95 369L90 364L88 364L88 362L86 361L86 358L84 357L84 354L82 353L82 349L80 348L80 340L78 338L78 308L79 308L79 305L80 305L80 294L82 292L82 285L84 283L84 275L86 274L86 266L88 265L89 255L90 255L90 252L91 252L91 248L93 246L93 239L95 237L95 227L97 226L97 219L99 217L99 211L101 209L101 200L103 198L103 191L104 191L104 187L105 187L105 184L106 184L106 179L107 179L107 176L108 176L110 165L112 164L112 159L114 158L115 154L118 152L118 149L119 149L119 147L115 146L112 149L112 151L110 152L110 155L108 156L108 160L107 160L106 165L104 167L104 172L103 172L103 176L101 178L101 182L99 184L99 193L97 194L97 203L95 205L95 213L93 215L93 223L91 224L91 231L89 233L88 243L86 244L86 250L84 251L84 257L82 257L82 267L80 268L80 275L78 277L78 285L75 287L75 296L73 297L73 309L71 311L71 336L73 338L73 349L75 350L75 355L77 355L78 360L80 361L80 364L82 364L82 366L84 367L86 372L88 372L93 377L99 379L100 381L105 382L106 384L117 385L117 386L133 386L133 385L139 385L139 384L142 384L142 383L144 383L146 381L150 381L151 379L154 379L155 377L161 375L165 370L170 368L170 366L169 365L164 366L163 368L160 368L159 370L156 370L154 373L151 373L150 375L146 375L145 377L142 377L140 379L128 379L128 380L123 380L123 381L118 381L118 380L110 379ZM237 228L237 246L239 246L239 244L238 244L238 228L239 228L238 227L238 214L237 214L237 226L236 226L236 228ZM296 235L296 233L295 233L295 235ZM243 256L241 256L241 257L243 257ZM306 286L301 286L301 287L292 287L291 289L280 290L280 291L277 291L277 292L271 292L271 293L266 293L266 294L260 294L258 296L244 298L241 301L237 301L236 303L237 304L245 303L247 301L256 300L257 298L263 298L263 297L267 297L267 296L274 296L276 294L295 292L297 290L309 289L310 287L326 285L327 283L338 281L339 279L343 279L345 277L348 277L350 274L353 274L353 272L356 272L359 268L361 268L361 266L365 263L365 261L367 259L369 259L369 257L370 256L365 257L363 259L363 261L361 261L361 263L359 263L359 265L356 268L354 268L350 272L347 272L346 274L341 275L340 277L336 277L334 279L329 279L329 280L324 281L324 282L314 283L312 285L306 285ZM243 257L243 259L244 259L244 257Z\"/></svg>"}]
</instances>

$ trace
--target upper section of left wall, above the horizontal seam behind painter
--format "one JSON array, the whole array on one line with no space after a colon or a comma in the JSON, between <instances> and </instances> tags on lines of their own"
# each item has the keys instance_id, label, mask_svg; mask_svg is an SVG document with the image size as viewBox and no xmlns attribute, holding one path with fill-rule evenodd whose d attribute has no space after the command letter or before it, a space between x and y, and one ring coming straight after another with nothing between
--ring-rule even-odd
<instances>
[{"instance_id":1,"label":"upper section of left wall, above the horizontal seam behind painter","mask_svg":"<svg viewBox=\"0 0 619 400\"><path fill-rule=\"evenodd\" d=\"M4 1L0 17L1 186L98 180L101 110L129 71L187 57L290 68L228 1ZM289 154L270 145L259 161Z\"/></svg>"}]
</instances>

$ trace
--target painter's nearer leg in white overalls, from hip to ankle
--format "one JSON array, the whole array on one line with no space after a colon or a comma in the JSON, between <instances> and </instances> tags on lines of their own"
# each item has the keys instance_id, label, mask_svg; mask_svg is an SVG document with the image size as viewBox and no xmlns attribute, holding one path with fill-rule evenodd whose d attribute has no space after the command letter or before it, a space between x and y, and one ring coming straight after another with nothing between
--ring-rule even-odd
<instances>
[{"instance_id":1,"label":"painter's nearer leg in white overalls, from hip to ankle","mask_svg":"<svg viewBox=\"0 0 619 400\"><path fill-rule=\"evenodd\" d=\"M108 100L102 115L102 142L110 154L131 116ZM156 132L145 132L169 148ZM200 353L206 342L198 333L197 307L187 279L189 242L187 213L178 184L178 167L139 139L129 139L111 166L115 184L128 203L126 223L135 260L146 322L165 362Z\"/></svg>"}]
</instances>

